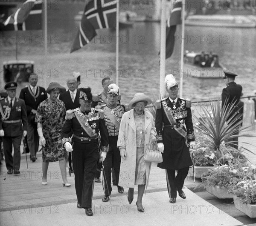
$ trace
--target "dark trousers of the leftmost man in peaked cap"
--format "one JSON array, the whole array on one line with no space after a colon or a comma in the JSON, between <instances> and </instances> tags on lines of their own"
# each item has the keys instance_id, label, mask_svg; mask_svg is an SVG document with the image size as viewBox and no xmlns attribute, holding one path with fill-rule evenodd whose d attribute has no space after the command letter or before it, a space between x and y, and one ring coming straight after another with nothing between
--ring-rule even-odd
<instances>
[{"instance_id":1,"label":"dark trousers of the leftmost man in peaked cap","mask_svg":"<svg viewBox=\"0 0 256 226\"><path fill-rule=\"evenodd\" d=\"M17 137L2 137L3 150L7 169L20 169L20 144L22 135ZM12 157L12 145L14 154Z\"/></svg>"}]
</instances>

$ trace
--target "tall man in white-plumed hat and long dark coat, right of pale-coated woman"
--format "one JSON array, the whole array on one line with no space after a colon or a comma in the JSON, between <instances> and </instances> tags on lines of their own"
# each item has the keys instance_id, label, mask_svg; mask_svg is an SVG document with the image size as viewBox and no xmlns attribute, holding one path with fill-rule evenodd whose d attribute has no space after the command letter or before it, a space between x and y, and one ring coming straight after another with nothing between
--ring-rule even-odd
<instances>
[{"instance_id":1,"label":"tall man in white-plumed hat and long dark coat, right of pale-coated woman","mask_svg":"<svg viewBox=\"0 0 256 226\"><path fill-rule=\"evenodd\" d=\"M189 145L195 145L195 135L191 102L177 97L179 88L172 74L166 75L165 86L169 97L156 103L157 143L163 155L163 162L157 166L166 169L169 202L175 203L177 192L181 198L186 198L182 188L189 166L193 165Z\"/></svg>"}]
</instances>

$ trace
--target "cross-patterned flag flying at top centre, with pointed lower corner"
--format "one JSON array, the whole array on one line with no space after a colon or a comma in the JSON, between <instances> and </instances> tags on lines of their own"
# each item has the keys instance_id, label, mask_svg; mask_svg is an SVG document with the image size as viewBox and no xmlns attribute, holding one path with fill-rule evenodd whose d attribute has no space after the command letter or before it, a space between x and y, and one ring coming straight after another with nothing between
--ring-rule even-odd
<instances>
[{"instance_id":1,"label":"cross-patterned flag flying at top centre, with pointed lower corner","mask_svg":"<svg viewBox=\"0 0 256 226\"><path fill-rule=\"evenodd\" d=\"M90 0L79 24L79 31L71 48L71 53L82 48L97 35L96 29L116 26L116 1Z\"/></svg>"}]
</instances>

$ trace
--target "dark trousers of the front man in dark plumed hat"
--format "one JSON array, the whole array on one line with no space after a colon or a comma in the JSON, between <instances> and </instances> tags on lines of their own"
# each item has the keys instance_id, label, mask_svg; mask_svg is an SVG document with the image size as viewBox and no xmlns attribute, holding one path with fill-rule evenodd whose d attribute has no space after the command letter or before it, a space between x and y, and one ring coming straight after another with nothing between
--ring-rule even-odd
<instances>
[{"instance_id":1,"label":"dark trousers of the front man in dark plumed hat","mask_svg":"<svg viewBox=\"0 0 256 226\"><path fill-rule=\"evenodd\" d=\"M99 144L74 142L72 152L75 187L82 208L92 208L94 177L99 159Z\"/></svg>"}]
</instances>

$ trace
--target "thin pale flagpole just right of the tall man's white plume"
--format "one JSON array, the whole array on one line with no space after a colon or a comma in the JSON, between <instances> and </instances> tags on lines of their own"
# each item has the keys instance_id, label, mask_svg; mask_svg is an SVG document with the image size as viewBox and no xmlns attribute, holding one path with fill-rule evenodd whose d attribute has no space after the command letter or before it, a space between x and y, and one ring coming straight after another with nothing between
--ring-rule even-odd
<instances>
[{"instance_id":1,"label":"thin pale flagpole just right of the tall man's white plume","mask_svg":"<svg viewBox=\"0 0 256 226\"><path fill-rule=\"evenodd\" d=\"M184 59L184 34L185 34L185 0L181 1L181 51L180 51L180 97L183 96L183 59Z\"/></svg>"}]
</instances>

